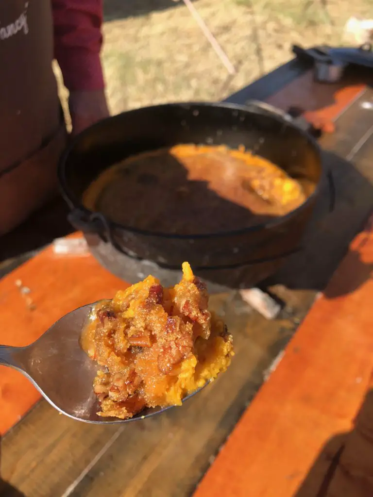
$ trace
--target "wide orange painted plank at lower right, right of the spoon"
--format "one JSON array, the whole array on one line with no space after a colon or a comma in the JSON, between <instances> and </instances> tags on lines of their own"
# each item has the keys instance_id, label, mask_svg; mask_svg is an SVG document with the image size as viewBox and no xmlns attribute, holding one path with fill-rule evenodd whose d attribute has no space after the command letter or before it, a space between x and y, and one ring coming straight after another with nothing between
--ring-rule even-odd
<instances>
[{"instance_id":1,"label":"wide orange painted plank at lower right, right of the spoon","mask_svg":"<svg viewBox=\"0 0 373 497\"><path fill-rule=\"evenodd\" d=\"M294 497L326 442L351 429L372 386L372 226L373 218L194 497Z\"/></svg>"}]
</instances>

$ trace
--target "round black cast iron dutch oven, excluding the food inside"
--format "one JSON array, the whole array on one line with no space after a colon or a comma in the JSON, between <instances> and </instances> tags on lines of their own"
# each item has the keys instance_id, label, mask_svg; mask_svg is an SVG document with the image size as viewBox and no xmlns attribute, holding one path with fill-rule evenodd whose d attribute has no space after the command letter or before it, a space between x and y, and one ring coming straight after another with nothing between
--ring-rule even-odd
<instances>
[{"instance_id":1,"label":"round black cast iron dutch oven, excluding the food inside","mask_svg":"<svg viewBox=\"0 0 373 497\"><path fill-rule=\"evenodd\" d=\"M194 236L122 226L82 205L83 192L103 169L134 154L183 143L233 149L244 145L316 187L286 216L247 229ZM323 174L320 149L312 136L287 114L256 101L245 106L173 103L124 112L77 136L59 166L70 222L84 232L93 254L111 272L130 282L152 273L174 284L187 260L207 281L233 288L263 280L298 248Z\"/></svg>"}]
</instances>

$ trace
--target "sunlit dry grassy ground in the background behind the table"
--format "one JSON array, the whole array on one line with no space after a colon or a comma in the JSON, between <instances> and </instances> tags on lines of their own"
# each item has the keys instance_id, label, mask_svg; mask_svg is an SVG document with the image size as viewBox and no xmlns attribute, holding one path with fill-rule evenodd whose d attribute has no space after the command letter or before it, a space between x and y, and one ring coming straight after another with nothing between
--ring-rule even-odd
<instances>
[{"instance_id":1,"label":"sunlit dry grassy ground in the background behind the table","mask_svg":"<svg viewBox=\"0 0 373 497\"><path fill-rule=\"evenodd\" d=\"M237 74L227 70L184 3L104 0L102 60L112 113L165 101L218 100L291 57L293 43L339 45L373 0L194 0Z\"/></svg>"}]
</instances>

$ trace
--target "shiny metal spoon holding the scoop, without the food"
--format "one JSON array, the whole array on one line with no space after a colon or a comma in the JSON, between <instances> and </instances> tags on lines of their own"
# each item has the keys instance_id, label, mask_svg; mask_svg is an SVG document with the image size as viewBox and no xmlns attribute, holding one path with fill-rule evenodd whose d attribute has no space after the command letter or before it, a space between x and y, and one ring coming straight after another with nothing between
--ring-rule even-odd
<instances>
[{"instance_id":1,"label":"shiny metal spoon holding the scoop, without the food","mask_svg":"<svg viewBox=\"0 0 373 497\"><path fill-rule=\"evenodd\" d=\"M174 407L144 409L130 419L96 414L99 406L93 393L93 379L98 366L79 343L93 306L88 304L66 314L26 347L0 345L0 365L23 373L54 408L79 421L123 423L161 414ZM183 402L200 390L185 397Z\"/></svg>"}]
</instances>

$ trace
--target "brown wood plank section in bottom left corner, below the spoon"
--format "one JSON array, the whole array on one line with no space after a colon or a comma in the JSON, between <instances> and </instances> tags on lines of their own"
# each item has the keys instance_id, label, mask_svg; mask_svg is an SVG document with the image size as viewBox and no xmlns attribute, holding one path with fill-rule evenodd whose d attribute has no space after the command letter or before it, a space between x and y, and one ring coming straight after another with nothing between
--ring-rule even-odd
<instances>
[{"instance_id":1,"label":"brown wood plank section in bottom left corner, below the spoon","mask_svg":"<svg viewBox=\"0 0 373 497\"><path fill-rule=\"evenodd\" d=\"M61 496L117 431L79 423L41 401L3 438L1 478L27 497Z\"/></svg>"}]
</instances>

